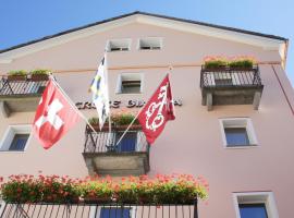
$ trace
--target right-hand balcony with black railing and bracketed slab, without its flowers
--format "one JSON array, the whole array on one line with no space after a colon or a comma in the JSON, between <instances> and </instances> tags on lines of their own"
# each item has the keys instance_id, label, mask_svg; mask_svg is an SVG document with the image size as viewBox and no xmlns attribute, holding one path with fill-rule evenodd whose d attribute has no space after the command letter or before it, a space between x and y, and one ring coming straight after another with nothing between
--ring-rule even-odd
<instances>
[{"instance_id":1,"label":"right-hand balcony with black railing and bracketed slab, without its flowers","mask_svg":"<svg viewBox=\"0 0 294 218\"><path fill-rule=\"evenodd\" d=\"M253 68L219 68L201 66L200 88L203 105L208 110L222 105L253 105L259 107L264 85L258 65Z\"/></svg>"}]
</instances>

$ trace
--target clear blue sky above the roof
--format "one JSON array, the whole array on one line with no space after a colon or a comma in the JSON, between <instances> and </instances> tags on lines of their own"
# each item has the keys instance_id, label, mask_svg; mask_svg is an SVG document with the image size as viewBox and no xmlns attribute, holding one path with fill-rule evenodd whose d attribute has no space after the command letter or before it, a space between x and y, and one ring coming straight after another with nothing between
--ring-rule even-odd
<instances>
[{"instance_id":1,"label":"clear blue sky above the roof","mask_svg":"<svg viewBox=\"0 0 294 218\"><path fill-rule=\"evenodd\" d=\"M144 11L289 38L286 73L294 84L293 9L293 0L0 0L0 49Z\"/></svg>"}]
</instances>

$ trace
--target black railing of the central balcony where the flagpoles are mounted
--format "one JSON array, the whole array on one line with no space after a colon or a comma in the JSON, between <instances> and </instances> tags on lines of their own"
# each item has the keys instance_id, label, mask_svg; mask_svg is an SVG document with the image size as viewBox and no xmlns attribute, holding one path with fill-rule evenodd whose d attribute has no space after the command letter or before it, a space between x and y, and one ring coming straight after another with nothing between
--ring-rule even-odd
<instances>
[{"instance_id":1,"label":"black railing of the central balcony where the flagpoles are mounted","mask_svg":"<svg viewBox=\"0 0 294 218\"><path fill-rule=\"evenodd\" d=\"M118 144L124 131L112 129L111 132L93 132L86 128L84 153L136 153L148 152L149 144L140 130L130 130Z\"/></svg>"}]
</instances>

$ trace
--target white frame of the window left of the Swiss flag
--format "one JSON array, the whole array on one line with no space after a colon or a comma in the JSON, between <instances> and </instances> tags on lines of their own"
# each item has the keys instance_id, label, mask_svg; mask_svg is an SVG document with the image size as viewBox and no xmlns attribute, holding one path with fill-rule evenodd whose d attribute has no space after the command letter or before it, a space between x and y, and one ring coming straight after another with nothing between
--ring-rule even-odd
<instances>
[{"instance_id":1,"label":"white frame of the window left of the Swiss flag","mask_svg":"<svg viewBox=\"0 0 294 218\"><path fill-rule=\"evenodd\" d=\"M29 144L29 141L32 137L30 132L32 132L32 124L9 125L0 142L0 152L7 152L7 153L25 152L27 149L27 145ZM24 150L9 150L15 134L29 134L27 142L25 144Z\"/></svg>"}]
</instances>

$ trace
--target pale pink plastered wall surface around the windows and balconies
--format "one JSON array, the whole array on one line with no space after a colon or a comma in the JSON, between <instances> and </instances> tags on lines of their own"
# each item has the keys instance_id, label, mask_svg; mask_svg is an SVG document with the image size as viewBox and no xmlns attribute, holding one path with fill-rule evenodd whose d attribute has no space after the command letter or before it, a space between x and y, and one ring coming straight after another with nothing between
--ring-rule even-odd
<instances>
[{"instance_id":1,"label":"pale pink plastered wall surface around the windows and balconies","mask_svg":"<svg viewBox=\"0 0 294 218\"><path fill-rule=\"evenodd\" d=\"M138 38L150 36L162 37L163 49L136 50ZM200 203L199 217L235 217L232 193L250 191L272 191L280 217L293 215L294 119L290 105L294 106L294 99L282 68L278 64L259 66L265 85L259 110L254 110L250 105L240 105L216 106L212 111L207 111L201 106L200 66L196 64L204 57L216 55L248 55L260 61L280 61L278 51L150 25L131 24L17 58L12 63L0 64L0 72L52 69L52 72L60 72L54 75L74 102L87 101L90 100L87 89L95 71L83 69L97 68L106 41L111 38L132 38L131 51L108 55L112 100L147 100L169 72L168 65L175 65L170 73L172 93L174 98L182 99L183 106L175 108L176 119L167 124L151 147L150 174L177 172L204 175L210 183L210 196L208 205ZM164 68L160 68L162 65ZM81 72L74 72L78 69L82 69ZM144 74L143 94L115 94L119 74L132 72ZM90 117L96 111L83 110L83 113ZM257 147L224 148L219 119L235 117L252 119L258 140ZM9 124L32 123L33 119L34 112L0 118L0 136L3 136ZM46 174L87 175L82 156L85 125L81 121L49 150L44 150L32 136L24 153L1 152L0 174L36 174L41 170Z\"/></svg>"}]
</instances>

